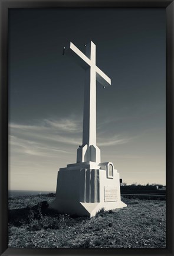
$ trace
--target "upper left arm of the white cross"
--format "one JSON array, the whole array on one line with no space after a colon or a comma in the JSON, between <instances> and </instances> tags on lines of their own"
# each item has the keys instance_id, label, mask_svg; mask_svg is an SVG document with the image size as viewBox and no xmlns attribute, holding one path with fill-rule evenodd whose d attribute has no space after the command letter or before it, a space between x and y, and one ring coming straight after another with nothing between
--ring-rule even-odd
<instances>
[{"instance_id":1,"label":"upper left arm of the white cross","mask_svg":"<svg viewBox=\"0 0 174 256\"><path fill-rule=\"evenodd\" d=\"M73 56L75 62L84 69L87 69L90 66L91 60L71 42L68 47L65 47L65 55Z\"/></svg>"}]
</instances>

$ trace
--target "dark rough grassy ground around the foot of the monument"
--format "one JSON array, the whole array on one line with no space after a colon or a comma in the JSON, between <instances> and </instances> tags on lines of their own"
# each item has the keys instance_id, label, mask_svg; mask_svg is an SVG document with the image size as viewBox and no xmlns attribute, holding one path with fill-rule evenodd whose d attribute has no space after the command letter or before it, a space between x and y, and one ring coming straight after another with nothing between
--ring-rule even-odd
<instances>
[{"instance_id":1,"label":"dark rough grassy ground around the foot of the monument","mask_svg":"<svg viewBox=\"0 0 174 256\"><path fill-rule=\"evenodd\" d=\"M53 196L9 198L9 247L166 247L165 201L123 198L126 208L101 210L90 219L49 211Z\"/></svg>"}]
</instances>

